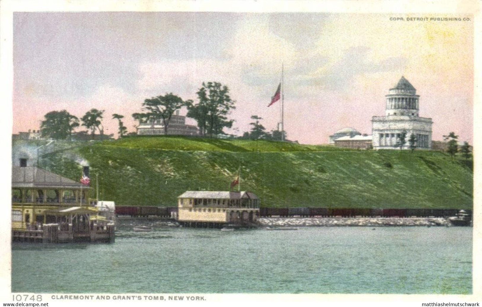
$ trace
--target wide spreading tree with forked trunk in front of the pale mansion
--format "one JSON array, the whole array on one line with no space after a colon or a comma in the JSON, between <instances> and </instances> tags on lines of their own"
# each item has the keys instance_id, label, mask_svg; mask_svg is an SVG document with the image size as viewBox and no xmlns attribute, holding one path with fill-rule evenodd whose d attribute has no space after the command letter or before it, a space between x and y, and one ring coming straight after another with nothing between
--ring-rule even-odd
<instances>
[{"instance_id":1,"label":"wide spreading tree with forked trunk in front of the pale mansion","mask_svg":"<svg viewBox=\"0 0 482 307\"><path fill-rule=\"evenodd\" d=\"M142 106L147 112L144 113L144 115L140 115L139 118L147 119L147 121L162 120L162 124L164 125L164 134L167 135L169 122L171 121L171 117L174 115L174 112L183 106L188 106L190 104L190 100L183 101L181 97L176 96L173 93L166 93L164 96L157 96L144 100Z\"/></svg>"}]
</instances>

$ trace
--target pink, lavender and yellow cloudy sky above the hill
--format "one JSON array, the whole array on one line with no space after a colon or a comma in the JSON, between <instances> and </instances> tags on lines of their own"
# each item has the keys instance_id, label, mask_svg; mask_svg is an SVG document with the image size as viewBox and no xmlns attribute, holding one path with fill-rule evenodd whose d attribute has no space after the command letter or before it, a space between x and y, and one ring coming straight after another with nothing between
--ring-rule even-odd
<instances>
[{"instance_id":1,"label":"pink, lavender and yellow cloudy sky above the hill","mask_svg":"<svg viewBox=\"0 0 482 307\"><path fill-rule=\"evenodd\" d=\"M131 115L145 99L172 92L197 102L207 81L236 101L225 132L242 135L251 115L269 131L280 121L280 103L267 105L283 66L289 140L323 144L345 127L371 134L372 116L385 115L385 95L404 76L420 116L434 122L433 140L454 131L472 143L473 18L407 17L470 15L15 12L13 133L39 129L50 111L80 118L97 108L117 137L112 114L135 131Z\"/></svg>"}]
</instances>

